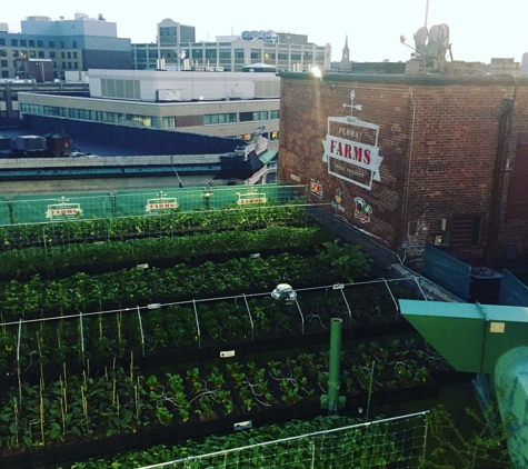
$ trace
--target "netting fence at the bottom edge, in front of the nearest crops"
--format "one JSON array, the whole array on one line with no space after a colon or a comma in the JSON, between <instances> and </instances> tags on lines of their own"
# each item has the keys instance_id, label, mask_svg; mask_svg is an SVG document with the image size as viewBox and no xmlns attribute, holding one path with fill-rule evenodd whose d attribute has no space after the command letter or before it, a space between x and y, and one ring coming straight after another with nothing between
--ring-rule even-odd
<instances>
[{"instance_id":1,"label":"netting fence at the bottom edge, in front of the nearest crops","mask_svg":"<svg viewBox=\"0 0 528 469\"><path fill-rule=\"evenodd\" d=\"M427 416L425 411L376 420L191 456L141 469L422 468Z\"/></svg>"}]
</instances>

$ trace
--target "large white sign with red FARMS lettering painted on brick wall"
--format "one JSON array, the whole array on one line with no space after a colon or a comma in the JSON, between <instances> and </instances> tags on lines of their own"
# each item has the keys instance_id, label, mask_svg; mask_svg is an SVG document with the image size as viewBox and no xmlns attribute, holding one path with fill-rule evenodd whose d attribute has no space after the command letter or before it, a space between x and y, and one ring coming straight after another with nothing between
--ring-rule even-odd
<instances>
[{"instance_id":1,"label":"large white sign with red FARMS lettering painted on brick wall","mask_svg":"<svg viewBox=\"0 0 528 469\"><path fill-rule=\"evenodd\" d=\"M328 118L322 161L329 174L371 190L372 181L381 180L379 167L383 158L379 156L379 126L352 116L353 109L362 109L361 104L353 104L355 96L352 90L351 104L343 104L350 108L350 116Z\"/></svg>"}]
</instances>

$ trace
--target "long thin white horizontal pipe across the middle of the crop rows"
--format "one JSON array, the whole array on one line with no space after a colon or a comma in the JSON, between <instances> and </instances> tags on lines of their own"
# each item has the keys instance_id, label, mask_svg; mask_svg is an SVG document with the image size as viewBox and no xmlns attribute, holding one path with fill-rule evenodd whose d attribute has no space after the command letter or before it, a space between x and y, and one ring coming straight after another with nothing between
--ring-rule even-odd
<instances>
[{"instance_id":1,"label":"long thin white horizontal pipe across the middle of the crop rows","mask_svg":"<svg viewBox=\"0 0 528 469\"><path fill-rule=\"evenodd\" d=\"M399 278L399 279L376 279L376 280L367 280L367 281L362 281L362 282L353 282L353 283L340 283L342 285L343 288L346 287L360 287L360 286L365 286L365 285L373 285L373 283L389 283L389 282L395 282L395 281L407 281L409 280L410 277L404 277L404 278ZM327 286L322 286L322 287L307 287L307 288L296 288L295 291L296 292L299 292L299 291L315 291L315 290L323 290L323 289L329 289L329 288L332 288L333 289L333 285L327 285ZM139 309L146 309L146 310L150 310L150 309L160 309L160 308L167 308L169 306L180 306L180 305L195 305L195 309L196 309L196 303L197 302L207 302L207 301L226 301L226 300L232 300L232 299L237 299L237 298L258 298L258 297L267 297L271 295L270 292L263 292L263 293L248 293L248 295L231 295L231 296L227 296L227 297L216 297L216 298L202 298L202 299L192 299L192 300L182 300L182 301L172 301L172 302L168 302L168 303L150 303L150 305L147 305L147 306L142 306L142 307L136 307L136 308L120 308L120 309L109 309L109 310L104 310L104 311L91 311L91 312L83 312L82 316L83 317L90 317L90 316L103 316L103 315L112 315L112 313L117 313L117 312L131 312L131 311L137 311L138 308ZM395 298L392 297L392 299L395 300ZM395 300L395 303L396 303L396 300ZM156 305L156 308L152 308L152 305ZM29 323L32 323L32 322L47 322L47 321L58 321L58 320L61 320L61 319L72 319L72 318L78 318L79 315L66 315L66 316L53 316L51 318L38 318L38 319L24 319L22 322L24 325L29 325ZM0 323L0 327L7 327L7 326L16 326L18 325L19 321L11 321L11 322L2 322Z\"/></svg>"}]
</instances>

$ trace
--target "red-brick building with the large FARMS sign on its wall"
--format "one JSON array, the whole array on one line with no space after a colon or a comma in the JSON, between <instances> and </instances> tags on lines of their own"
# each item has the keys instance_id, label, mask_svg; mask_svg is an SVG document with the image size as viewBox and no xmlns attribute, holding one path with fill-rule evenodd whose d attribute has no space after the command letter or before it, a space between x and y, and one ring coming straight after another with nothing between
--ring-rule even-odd
<instances>
[{"instance_id":1,"label":"red-brick building with the large FARMS sign on its wall","mask_svg":"<svg viewBox=\"0 0 528 469\"><path fill-rule=\"evenodd\" d=\"M528 250L528 80L281 73L278 180L407 260Z\"/></svg>"}]
</instances>

